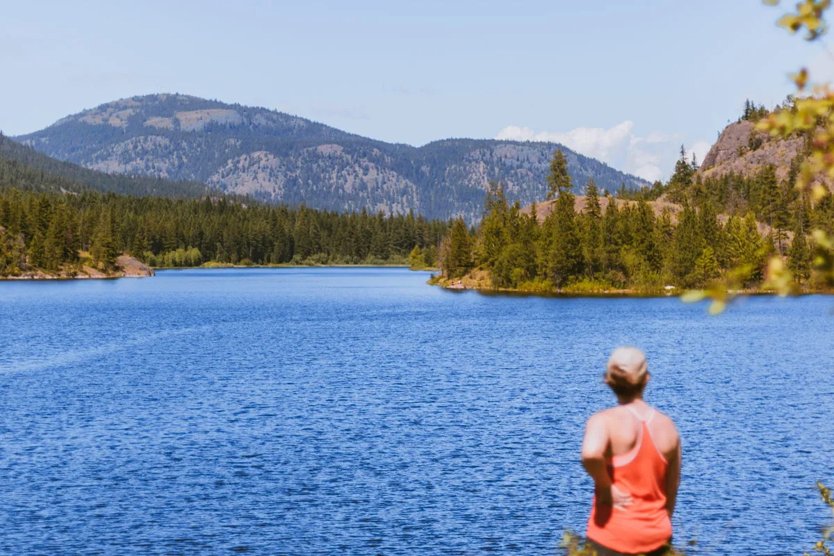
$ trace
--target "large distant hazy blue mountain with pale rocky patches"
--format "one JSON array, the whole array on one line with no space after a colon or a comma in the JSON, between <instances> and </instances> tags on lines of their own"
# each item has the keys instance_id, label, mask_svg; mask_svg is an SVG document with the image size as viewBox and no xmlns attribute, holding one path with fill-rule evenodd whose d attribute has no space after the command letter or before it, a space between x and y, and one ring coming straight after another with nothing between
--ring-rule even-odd
<instances>
[{"instance_id":1,"label":"large distant hazy blue mountain with pale rocky patches","mask_svg":"<svg viewBox=\"0 0 834 556\"><path fill-rule=\"evenodd\" d=\"M550 158L562 148L577 193L641 188L555 143L445 139L416 148L346 133L266 108L181 94L125 98L17 138L51 157L106 173L200 182L269 202L339 212L480 218L490 181L528 204L545 197Z\"/></svg>"}]
</instances>

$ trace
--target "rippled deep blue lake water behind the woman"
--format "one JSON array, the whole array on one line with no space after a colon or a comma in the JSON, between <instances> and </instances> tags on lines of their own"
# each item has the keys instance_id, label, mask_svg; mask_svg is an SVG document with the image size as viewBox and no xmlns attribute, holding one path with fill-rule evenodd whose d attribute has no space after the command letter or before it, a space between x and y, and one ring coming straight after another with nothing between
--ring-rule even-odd
<instances>
[{"instance_id":1,"label":"rippled deep blue lake water behind the woman","mask_svg":"<svg viewBox=\"0 0 834 556\"><path fill-rule=\"evenodd\" d=\"M676 540L798 554L831 513L834 298L456 293L393 268L0 283L0 553L557 552L610 350L684 442Z\"/></svg>"}]
</instances>

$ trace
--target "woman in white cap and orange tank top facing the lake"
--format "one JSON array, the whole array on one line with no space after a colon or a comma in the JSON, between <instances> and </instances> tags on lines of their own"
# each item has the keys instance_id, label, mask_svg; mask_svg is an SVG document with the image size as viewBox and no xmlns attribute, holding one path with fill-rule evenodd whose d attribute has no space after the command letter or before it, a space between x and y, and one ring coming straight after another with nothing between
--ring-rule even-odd
<instances>
[{"instance_id":1,"label":"woman in white cap and orange tank top facing the lake","mask_svg":"<svg viewBox=\"0 0 834 556\"><path fill-rule=\"evenodd\" d=\"M643 401L646 356L616 348L605 383L618 405L588 419L582 464L595 483L586 537L598 556L660 556L672 537L681 438L671 418Z\"/></svg>"}]
</instances>

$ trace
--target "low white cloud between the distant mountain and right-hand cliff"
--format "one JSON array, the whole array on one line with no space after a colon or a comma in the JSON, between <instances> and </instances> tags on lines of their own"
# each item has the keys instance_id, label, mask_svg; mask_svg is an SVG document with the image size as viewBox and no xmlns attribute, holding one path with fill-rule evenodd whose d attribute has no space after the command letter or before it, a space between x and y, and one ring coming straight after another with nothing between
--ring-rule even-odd
<instances>
[{"instance_id":1,"label":"low white cloud between the distant mountain and right-hand cliff","mask_svg":"<svg viewBox=\"0 0 834 556\"><path fill-rule=\"evenodd\" d=\"M507 126L495 135L496 139L513 141L549 141L596 158L609 166L647 179L668 178L680 155L684 138L679 133L652 131L645 137L633 133L634 122L626 120L611 128L575 128L568 132L536 132L531 128ZM702 161L710 143L695 141L686 149L691 158L695 153Z\"/></svg>"}]
</instances>

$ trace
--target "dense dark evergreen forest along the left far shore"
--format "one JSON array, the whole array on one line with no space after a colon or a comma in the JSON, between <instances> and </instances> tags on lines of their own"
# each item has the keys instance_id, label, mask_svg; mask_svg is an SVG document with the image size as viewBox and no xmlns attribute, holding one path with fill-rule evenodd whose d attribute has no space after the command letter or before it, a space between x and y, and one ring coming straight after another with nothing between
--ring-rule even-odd
<instances>
[{"instance_id":1,"label":"dense dark evergreen forest along the left far shore","mask_svg":"<svg viewBox=\"0 0 834 556\"><path fill-rule=\"evenodd\" d=\"M217 265L435 265L449 223L414 214L338 214L226 198L34 193L0 188L0 277L120 275ZM415 250L416 249L416 250ZM409 258L410 255L410 258Z\"/></svg>"}]
</instances>

